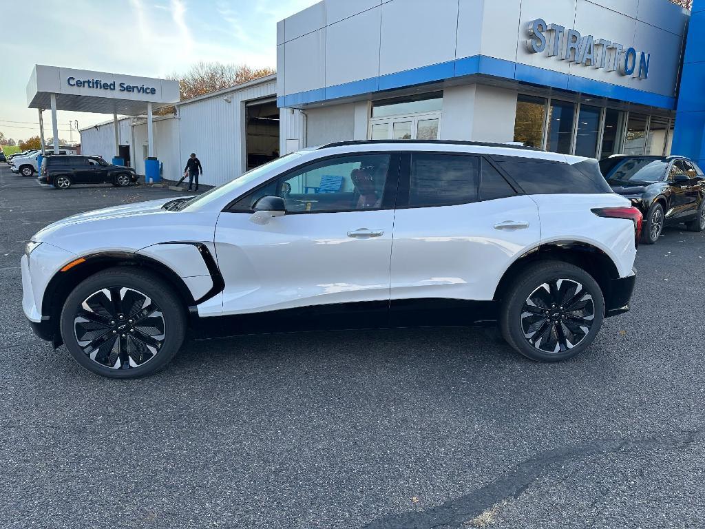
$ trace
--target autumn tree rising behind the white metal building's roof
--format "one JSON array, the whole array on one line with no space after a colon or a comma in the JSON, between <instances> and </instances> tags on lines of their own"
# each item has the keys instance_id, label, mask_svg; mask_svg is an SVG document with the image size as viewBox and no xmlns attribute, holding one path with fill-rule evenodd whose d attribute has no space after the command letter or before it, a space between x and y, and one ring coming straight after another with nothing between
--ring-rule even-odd
<instances>
[{"instance_id":1,"label":"autumn tree rising behind the white metal building's roof","mask_svg":"<svg viewBox=\"0 0 705 529\"><path fill-rule=\"evenodd\" d=\"M200 61L183 74L168 75L168 79L178 80L181 99L190 99L273 73L276 71L271 68L250 68L246 64Z\"/></svg>"}]
</instances>

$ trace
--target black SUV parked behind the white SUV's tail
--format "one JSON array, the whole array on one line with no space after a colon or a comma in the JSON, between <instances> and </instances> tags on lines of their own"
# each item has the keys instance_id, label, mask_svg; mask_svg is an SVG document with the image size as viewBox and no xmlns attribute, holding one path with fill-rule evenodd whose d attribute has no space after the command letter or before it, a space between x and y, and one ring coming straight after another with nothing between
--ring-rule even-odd
<instances>
[{"instance_id":1,"label":"black SUV parked behind the white SUV's tail","mask_svg":"<svg viewBox=\"0 0 705 529\"><path fill-rule=\"evenodd\" d=\"M642 210L644 243L658 241L668 224L705 229L705 176L692 160L620 155L601 160L600 170L615 193Z\"/></svg>"}]
</instances>

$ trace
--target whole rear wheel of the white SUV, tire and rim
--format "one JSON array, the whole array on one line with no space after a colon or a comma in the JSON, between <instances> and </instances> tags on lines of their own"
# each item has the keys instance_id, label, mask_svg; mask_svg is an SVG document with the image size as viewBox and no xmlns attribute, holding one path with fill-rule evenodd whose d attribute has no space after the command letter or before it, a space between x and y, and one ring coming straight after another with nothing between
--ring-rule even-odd
<instances>
[{"instance_id":1,"label":"whole rear wheel of the white SUV, tire and rim","mask_svg":"<svg viewBox=\"0 0 705 529\"><path fill-rule=\"evenodd\" d=\"M566 301L570 305L561 305ZM522 355L557 362L590 346L604 314L601 288L590 274L566 262L543 261L508 288L499 324L504 339Z\"/></svg>"}]
</instances>

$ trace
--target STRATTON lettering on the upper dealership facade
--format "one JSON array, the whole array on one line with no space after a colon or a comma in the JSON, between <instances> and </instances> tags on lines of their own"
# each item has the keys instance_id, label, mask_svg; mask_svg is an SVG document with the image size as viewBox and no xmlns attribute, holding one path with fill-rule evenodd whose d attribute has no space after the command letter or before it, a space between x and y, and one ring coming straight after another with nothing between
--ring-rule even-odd
<instances>
[{"instance_id":1,"label":"STRATTON lettering on the upper dealership facade","mask_svg":"<svg viewBox=\"0 0 705 529\"><path fill-rule=\"evenodd\" d=\"M581 36L576 30L566 30L562 25L546 24L542 18L527 25L527 51L532 54L547 52L549 57L558 57L584 66L618 71L621 75L635 75L639 67L639 79L649 77L651 54L637 52L617 42L595 39L592 35ZM548 36L546 35L548 34ZM638 63L638 64L637 64Z\"/></svg>"}]
</instances>

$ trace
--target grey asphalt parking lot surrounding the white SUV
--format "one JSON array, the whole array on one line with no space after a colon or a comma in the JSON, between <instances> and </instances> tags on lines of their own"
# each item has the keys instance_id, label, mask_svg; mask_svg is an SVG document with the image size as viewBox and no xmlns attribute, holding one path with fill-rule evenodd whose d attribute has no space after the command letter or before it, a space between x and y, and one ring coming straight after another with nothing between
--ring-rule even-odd
<instances>
[{"instance_id":1,"label":"grey asphalt parking lot surrounding the white SUV","mask_svg":"<svg viewBox=\"0 0 705 529\"><path fill-rule=\"evenodd\" d=\"M705 233L642 245L632 312L569 362L483 329L329 332L190 343L121 382L32 334L20 256L176 193L0 168L0 527L705 525Z\"/></svg>"}]
</instances>

